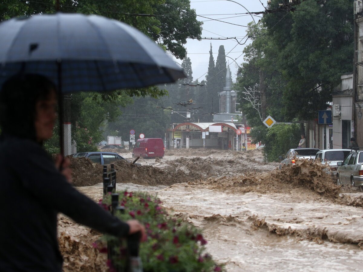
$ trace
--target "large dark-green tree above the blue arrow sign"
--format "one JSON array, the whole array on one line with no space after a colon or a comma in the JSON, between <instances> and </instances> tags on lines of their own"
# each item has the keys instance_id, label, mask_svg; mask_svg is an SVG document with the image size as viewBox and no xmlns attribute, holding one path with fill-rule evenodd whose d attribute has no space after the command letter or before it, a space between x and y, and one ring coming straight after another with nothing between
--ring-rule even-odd
<instances>
[{"instance_id":1,"label":"large dark-green tree above the blue arrow sign","mask_svg":"<svg viewBox=\"0 0 363 272\"><path fill-rule=\"evenodd\" d=\"M278 1L271 7L278 7ZM266 14L263 21L286 81L285 116L315 118L318 110L327 108L340 75L352 69L352 1L307 0L299 11Z\"/></svg>"}]
</instances>

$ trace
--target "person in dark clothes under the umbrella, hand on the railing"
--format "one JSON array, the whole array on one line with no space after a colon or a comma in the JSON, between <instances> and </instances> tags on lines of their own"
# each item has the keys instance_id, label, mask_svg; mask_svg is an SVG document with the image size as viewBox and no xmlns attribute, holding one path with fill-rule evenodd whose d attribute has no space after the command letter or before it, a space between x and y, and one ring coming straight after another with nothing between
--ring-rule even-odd
<instances>
[{"instance_id":1,"label":"person in dark clothes under the umbrella, hand on the railing","mask_svg":"<svg viewBox=\"0 0 363 272\"><path fill-rule=\"evenodd\" d=\"M70 161L56 166L42 148L52 137L55 85L36 74L9 78L0 91L0 267L2 271L62 271L57 213L118 237L145 229L122 222L70 184ZM61 169L61 170L59 170Z\"/></svg>"}]
</instances>

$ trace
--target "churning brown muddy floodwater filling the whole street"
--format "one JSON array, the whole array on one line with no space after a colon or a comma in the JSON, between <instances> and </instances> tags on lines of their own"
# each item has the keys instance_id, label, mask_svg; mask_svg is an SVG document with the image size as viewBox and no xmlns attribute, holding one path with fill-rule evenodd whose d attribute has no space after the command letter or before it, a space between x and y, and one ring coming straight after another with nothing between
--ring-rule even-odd
<instances>
[{"instance_id":1,"label":"churning brown muddy floodwater filling the whole street","mask_svg":"<svg viewBox=\"0 0 363 272\"><path fill-rule=\"evenodd\" d=\"M363 193L336 186L320 165L278 170L277 163L263 162L261 151L180 151L139 162L138 169L123 168L130 172L120 173L117 189L156 194L170 215L203 230L208 253L227 271L362 271ZM77 189L96 201L102 184L97 175L93 182ZM79 259L91 254L102 263L85 246L99 234L60 221L60 244L83 239ZM86 269L76 252L63 254L64 271Z\"/></svg>"}]
</instances>

